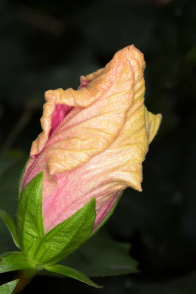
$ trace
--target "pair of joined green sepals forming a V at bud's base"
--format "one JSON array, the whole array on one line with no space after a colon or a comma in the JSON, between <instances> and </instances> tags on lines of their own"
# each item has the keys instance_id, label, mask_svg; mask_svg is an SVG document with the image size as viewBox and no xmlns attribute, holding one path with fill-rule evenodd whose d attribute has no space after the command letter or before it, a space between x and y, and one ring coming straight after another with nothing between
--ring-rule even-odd
<instances>
[{"instance_id":1,"label":"pair of joined green sepals forming a V at bud's base","mask_svg":"<svg viewBox=\"0 0 196 294\"><path fill-rule=\"evenodd\" d=\"M25 256L39 265L52 265L83 244L95 221L95 198L46 235L42 219L43 172L25 187L19 199L17 230Z\"/></svg>"}]
</instances>

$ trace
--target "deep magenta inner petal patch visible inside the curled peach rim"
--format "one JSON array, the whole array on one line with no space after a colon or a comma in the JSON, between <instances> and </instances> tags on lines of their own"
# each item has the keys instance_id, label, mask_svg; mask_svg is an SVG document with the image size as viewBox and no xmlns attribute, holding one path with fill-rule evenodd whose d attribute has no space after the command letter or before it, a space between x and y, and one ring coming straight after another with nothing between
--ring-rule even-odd
<instances>
[{"instance_id":1,"label":"deep magenta inner petal patch visible inside the curled peach rim","mask_svg":"<svg viewBox=\"0 0 196 294\"><path fill-rule=\"evenodd\" d=\"M58 127L59 123L63 121L63 119L70 113L73 109L73 106L56 104L54 112L52 114L51 120L51 129L49 131L49 136L53 133L53 131Z\"/></svg>"}]
</instances>

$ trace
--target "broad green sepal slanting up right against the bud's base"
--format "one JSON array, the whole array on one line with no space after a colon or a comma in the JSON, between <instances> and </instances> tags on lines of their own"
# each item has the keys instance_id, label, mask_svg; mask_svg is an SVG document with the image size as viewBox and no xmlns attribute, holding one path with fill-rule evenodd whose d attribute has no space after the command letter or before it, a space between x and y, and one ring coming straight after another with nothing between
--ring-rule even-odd
<instances>
[{"instance_id":1,"label":"broad green sepal slanting up right against the bud's base","mask_svg":"<svg viewBox=\"0 0 196 294\"><path fill-rule=\"evenodd\" d=\"M43 238L34 261L51 265L76 250L89 237L95 221L95 198Z\"/></svg>"}]
</instances>

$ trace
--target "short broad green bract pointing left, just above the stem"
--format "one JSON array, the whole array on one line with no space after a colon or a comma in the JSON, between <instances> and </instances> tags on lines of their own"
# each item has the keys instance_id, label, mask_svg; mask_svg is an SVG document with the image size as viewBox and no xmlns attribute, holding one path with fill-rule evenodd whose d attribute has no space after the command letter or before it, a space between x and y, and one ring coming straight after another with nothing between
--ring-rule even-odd
<instances>
[{"instance_id":1,"label":"short broad green bract pointing left, just above the stem","mask_svg":"<svg viewBox=\"0 0 196 294\"><path fill-rule=\"evenodd\" d=\"M6 252L0 255L0 273L12 270L34 270L36 267L19 251Z\"/></svg>"}]
</instances>

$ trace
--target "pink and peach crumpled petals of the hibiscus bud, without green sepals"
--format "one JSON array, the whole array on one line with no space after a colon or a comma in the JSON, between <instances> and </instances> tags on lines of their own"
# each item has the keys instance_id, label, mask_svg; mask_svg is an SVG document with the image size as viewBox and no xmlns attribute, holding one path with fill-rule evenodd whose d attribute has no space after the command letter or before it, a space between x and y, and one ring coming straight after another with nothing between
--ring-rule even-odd
<instances>
[{"instance_id":1,"label":"pink and peach crumpled petals of the hibiscus bud, without green sepals","mask_svg":"<svg viewBox=\"0 0 196 294\"><path fill-rule=\"evenodd\" d=\"M144 56L132 45L105 68L81 76L77 91L45 93L43 131L32 143L22 181L23 191L44 171L45 233L93 197L95 230L122 190L142 191L142 163L161 122L144 105L144 69Z\"/></svg>"}]
</instances>

